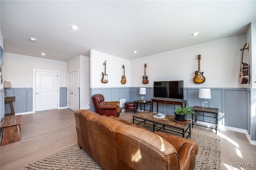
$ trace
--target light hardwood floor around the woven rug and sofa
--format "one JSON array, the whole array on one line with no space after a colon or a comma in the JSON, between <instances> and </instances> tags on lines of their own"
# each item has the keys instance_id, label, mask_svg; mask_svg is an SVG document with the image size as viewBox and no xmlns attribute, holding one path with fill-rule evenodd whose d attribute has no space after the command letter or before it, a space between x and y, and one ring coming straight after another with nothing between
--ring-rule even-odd
<instances>
[{"instance_id":1,"label":"light hardwood floor around the woven rug and sofa","mask_svg":"<svg viewBox=\"0 0 256 170\"><path fill-rule=\"evenodd\" d=\"M120 118L132 122L132 111L122 112ZM255 170L256 145L250 144L246 134L215 130L194 126L192 131L220 139L221 170ZM0 147L1 170L24 170L46 156L77 143L74 111L60 109L23 115L21 141ZM242 168L232 168L231 164L244 164Z\"/></svg>"}]
</instances>

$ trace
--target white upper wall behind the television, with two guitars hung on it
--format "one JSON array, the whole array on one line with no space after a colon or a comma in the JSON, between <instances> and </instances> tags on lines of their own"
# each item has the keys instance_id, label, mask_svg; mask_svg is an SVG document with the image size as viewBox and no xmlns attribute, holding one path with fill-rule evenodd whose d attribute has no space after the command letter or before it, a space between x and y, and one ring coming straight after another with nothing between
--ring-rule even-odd
<instances>
[{"instance_id":1,"label":"white upper wall behind the television, with two guitars hung on it","mask_svg":"<svg viewBox=\"0 0 256 170\"><path fill-rule=\"evenodd\" d=\"M246 42L245 34L201 43L172 51L158 53L131 61L131 87L153 87L154 81L184 80L184 87L246 87L238 81L240 72L240 49ZM197 55L202 55L200 71L206 81L193 81L198 70ZM244 55L244 62L248 57ZM142 84L144 63L149 83Z\"/></svg>"}]
</instances>

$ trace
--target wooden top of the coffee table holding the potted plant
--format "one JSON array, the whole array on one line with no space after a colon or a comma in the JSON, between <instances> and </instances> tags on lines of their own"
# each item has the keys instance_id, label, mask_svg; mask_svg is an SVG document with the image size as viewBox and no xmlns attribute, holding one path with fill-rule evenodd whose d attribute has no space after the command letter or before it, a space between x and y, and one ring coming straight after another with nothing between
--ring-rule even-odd
<instances>
[{"instance_id":1,"label":"wooden top of the coffee table holding the potted plant","mask_svg":"<svg viewBox=\"0 0 256 170\"><path fill-rule=\"evenodd\" d=\"M170 126L170 127L175 127L175 128L179 128L179 129L186 129L188 127L188 125L190 125L191 120L188 120L187 123L178 123L176 121L174 121L174 116L171 115L165 115L164 118L158 119L153 117L154 115L156 115L156 113L152 113L152 112L141 112L141 113L137 113L135 115L132 115L133 117L139 118L139 119L143 119L146 121L152 121L155 123L159 123L162 125L166 125L166 126Z\"/></svg>"}]
</instances>

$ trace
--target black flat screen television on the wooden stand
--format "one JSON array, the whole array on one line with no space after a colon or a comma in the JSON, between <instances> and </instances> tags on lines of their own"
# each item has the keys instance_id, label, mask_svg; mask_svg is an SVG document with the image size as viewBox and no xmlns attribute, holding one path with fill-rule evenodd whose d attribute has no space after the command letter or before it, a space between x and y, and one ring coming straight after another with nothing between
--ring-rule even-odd
<instances>
[{"instance_id":1,"label":"black flat screen television on the wooden stand","mask_svg":"<svg viewBox=\"0 0 256 170\"><path fill-rule=\"evenodd\" d=\"M154 81L154 97L183 99L183 80Z\"/></svg>"}]
</instances>

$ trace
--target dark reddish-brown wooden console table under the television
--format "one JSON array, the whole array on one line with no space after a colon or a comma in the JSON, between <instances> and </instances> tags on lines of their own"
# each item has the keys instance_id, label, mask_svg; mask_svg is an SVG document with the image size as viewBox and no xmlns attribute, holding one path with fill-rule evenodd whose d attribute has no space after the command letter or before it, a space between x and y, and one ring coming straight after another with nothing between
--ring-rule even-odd
<instances>
[{"instance_id":1,"label":"dark reddish-brown wooden console table under the television","mask_svg":"<svg viewBox=\"0 0 256 170\"><path fill-rule=\"evenodd\" d=\"M154 102L156 103L156 113L158 113L158 103L164 103L164 104L170 104L170 105L180 105L180 107L183 107L183 105L186 103L186 100L155 97L154 99L151 99L151 111L152 112L153 112Z\"/></svg>"}]
</instances>

